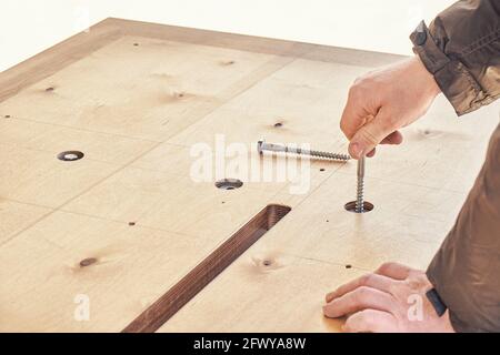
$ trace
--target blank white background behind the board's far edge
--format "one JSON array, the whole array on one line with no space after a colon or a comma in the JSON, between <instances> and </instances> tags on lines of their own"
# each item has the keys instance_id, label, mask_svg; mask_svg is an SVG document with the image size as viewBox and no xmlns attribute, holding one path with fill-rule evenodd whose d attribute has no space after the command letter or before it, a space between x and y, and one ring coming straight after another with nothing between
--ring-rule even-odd
<instances>
[{"instance_id":1,"label":"blank white background behind the board's far edge","mask_svg":"<svg viewBox=\"0 0 500 355\"><path fill-rule=\"evenodd\" d=\"M1 0L0 71L108 17L409 54L453 0Z\"/></svg>"}]
</instances>

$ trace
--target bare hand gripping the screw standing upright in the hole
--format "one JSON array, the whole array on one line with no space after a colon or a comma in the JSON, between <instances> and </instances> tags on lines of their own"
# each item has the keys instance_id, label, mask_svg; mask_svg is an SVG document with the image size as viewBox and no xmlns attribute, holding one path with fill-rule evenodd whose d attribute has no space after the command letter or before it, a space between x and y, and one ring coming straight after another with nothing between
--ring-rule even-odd
<instances>
[{"instance_id":1,"label":"bare hand gripping the screw standing upright in the hole","mask_svg":"<svg viewBox=\"0 0 500 355\"><path fill-rule=\"evenodd\" d=\"M439 92L418 57L357 79L340 121L349 153L372 156L379 143L400 144L398 130L422 116Z\"/></svg>"}]
</instances>

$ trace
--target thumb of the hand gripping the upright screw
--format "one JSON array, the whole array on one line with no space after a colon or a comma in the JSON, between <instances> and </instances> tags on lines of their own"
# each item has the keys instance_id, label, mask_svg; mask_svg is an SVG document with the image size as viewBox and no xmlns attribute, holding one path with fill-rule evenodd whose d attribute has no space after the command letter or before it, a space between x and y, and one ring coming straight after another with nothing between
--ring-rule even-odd
<instances>
[{"instance_id":1,"label":"thumb of the hand gripping the upright screw","mask_svg":"<svg viewBox=\"0 0 500 355\"><path fill-rule=\"evenodd\" d=\"M352 136L349 143L351 156L359 159L371 152L386 136L394 131L389 123L389 116L381 109L373 120L368 121Z\"/></svg>"}]
</instances>

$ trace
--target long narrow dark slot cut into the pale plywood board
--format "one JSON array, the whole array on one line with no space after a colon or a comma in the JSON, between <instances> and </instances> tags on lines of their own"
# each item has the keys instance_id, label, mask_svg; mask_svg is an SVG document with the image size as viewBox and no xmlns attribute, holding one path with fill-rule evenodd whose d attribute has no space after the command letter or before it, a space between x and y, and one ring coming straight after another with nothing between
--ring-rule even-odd
<instances>
[{"instance_id":1,"label":"long narrow dark slot cut into the pale plywood board","mask_svg":"<svg viewBox=\"0 0 500 355\"><path fill-rule=\"evenodd\" d=\"M151 333L157 331L290 211L291 207L286 205L267 205L122 332Z\"/></svg>"}]
</instances>

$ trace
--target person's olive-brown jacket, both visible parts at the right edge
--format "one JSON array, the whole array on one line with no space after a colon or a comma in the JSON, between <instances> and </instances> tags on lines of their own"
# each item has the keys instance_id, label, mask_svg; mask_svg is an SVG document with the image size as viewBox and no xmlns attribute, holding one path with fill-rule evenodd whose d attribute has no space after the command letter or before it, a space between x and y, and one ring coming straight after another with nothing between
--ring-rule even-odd
<instances>
[{"instance_id":1,"label":"person's olive-brown jacket, both visible parts at the right edge","mask_svg":"<svg viewBox=\"0 0 500 355\"><path fill-rule=\"evenodd\" d=\"M410 36L458 115L500 95L500 0L458 1ZM427 270L458 332L500 332L500 125L454 226Z\"/></svg>"}]
</instances>

